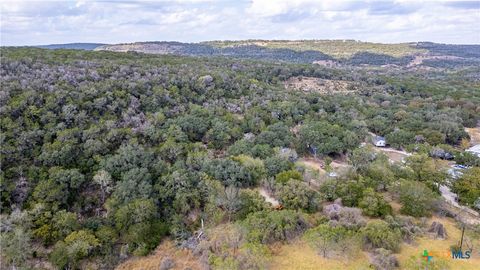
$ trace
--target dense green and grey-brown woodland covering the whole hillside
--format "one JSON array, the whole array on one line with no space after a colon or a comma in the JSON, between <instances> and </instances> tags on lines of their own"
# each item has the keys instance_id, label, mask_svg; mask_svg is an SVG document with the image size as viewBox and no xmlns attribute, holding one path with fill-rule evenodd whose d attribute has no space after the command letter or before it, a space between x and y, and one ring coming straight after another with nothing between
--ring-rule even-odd
<instances>
[{"instance_id":1,"label":"dense green and grey-brown woodland covering the whole hillside","mask_svg":"<svg viewBox=\"0 0 480 270\"><path fill-rule=\"evenodd\" d=\"M442 210L439 187L453 183L443 159L464 165L451 188L480 210L480 159L463 151L480 121L477 62L413 72L349 66L383 63L369 53L332 69L276 56L0 52L0 229L12 269L112 269L166 238L212 269L264 269L272 244L296 238L325 257L358 246L392 269L400 243L425 231L417 218ZM349 90L286 87L292 78ZM390 162L372 134L412 155ZM303 157L348 169L315 175Z\"/></svg>"}]
</instances>

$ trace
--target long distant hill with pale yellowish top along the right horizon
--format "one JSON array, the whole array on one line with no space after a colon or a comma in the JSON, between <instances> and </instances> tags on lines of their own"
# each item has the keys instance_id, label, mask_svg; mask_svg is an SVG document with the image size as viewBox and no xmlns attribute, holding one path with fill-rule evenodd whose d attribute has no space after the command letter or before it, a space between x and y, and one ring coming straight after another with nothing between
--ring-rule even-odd
<instances>
[{"instance_id":1,"label":"long distant hill with pale yellowish top along the right horizon","mask_svg":"<svg viewBox=\"0 0 480 270\"><path fill-rule=\"evenodd\" d=\"M258 60L324 65L418 65L471 66L480 64L480 45L449 45L431 42L383 44L355 40L243 40L181 42L135 42L103 45L95 50L228 56Z\"/></svg>"}]
</instances>

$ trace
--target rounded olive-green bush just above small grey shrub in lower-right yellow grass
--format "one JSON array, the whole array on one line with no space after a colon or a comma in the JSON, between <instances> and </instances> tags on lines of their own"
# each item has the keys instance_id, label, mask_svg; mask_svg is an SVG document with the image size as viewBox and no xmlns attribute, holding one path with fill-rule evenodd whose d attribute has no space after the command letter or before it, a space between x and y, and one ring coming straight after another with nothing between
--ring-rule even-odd
<instances>
[{"instance_id":1,"label":"rounded olive-green bush just above small grey shrub in lower-right yellow grass","mask_svg":"<svg viewBox=\"0 0 480 270\"><path fill-rule=\"evenodd\" d=\"M363 236L364 247L367 249L384 248L393 252L400 249L402 241L400 230L391 228L385 221L370 221L360 232Z\"/></svg>"}]
</instances>

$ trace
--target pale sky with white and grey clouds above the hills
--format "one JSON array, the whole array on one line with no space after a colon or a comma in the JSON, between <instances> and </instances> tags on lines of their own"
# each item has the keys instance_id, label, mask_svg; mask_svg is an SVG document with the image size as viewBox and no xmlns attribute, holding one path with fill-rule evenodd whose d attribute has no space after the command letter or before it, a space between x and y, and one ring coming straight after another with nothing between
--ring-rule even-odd
<instances>
[{"instance_id":1,"label":"pale sky with white and grey clouds above the hills","mask_svg":"<svg viewBox=\"0 0 480 270\"><path fill-rule=\"evenodd\" d=\"M243 39L480 44L480 0L0 0L2 46Z\"/></svg>"}]
</instances>

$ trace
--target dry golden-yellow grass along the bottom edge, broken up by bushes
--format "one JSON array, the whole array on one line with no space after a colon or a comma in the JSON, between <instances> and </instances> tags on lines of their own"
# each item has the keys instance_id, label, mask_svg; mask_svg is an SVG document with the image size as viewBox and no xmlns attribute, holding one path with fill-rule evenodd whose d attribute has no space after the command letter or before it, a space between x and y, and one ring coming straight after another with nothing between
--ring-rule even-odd
<instances>
[{"instance_id":1,"label":"dry golden-yellow grass along the bottom edge, broken up by bushes","mask_svg":"<svg viewBox=\"0 0 480 270\"><path fill-rule=\"evenodd\" d=\"M456 226L455 221L451 218L433 217L427 221L430 225L433 221L441 222L448 234L446 240L435 240L428 236L419 237L416 239L416 243L402 244L400 253L396 254L400 269L412 269L408 266L408 262L411 258L416 260L422 259L423 250L427 250L430 253L440 254L443 252L448 253L450 246L457 244L461 237L461 230ZM469 232L465 235L469 235ZM472 257L468 260L454 260L451 258L435 257L433 260L441 260L442 265L445 268L442 269L460 269L460 270L476 270L480 269L480 241L468 240L469 245L473 245ZM198 258L193 256L189 251L178 250L174 247L171 241L164 241L152 255L132 258L117 267L117 270L126 269L159 269L162 260L165 257L170 257L175 261L175 266L172 269L185 269L189 267L192 270L203 269L198 261ZM273 249L273 256L268 269L275 270L340 270L340 269L372 269L370 268L370 261L368 253L358 251L356 256L336 257L332 259L323 258L316 250L302 240L297 240L291 244L285 244L276 246Z\"/></svg>"}]
</instances>

